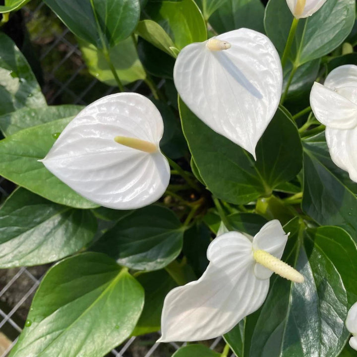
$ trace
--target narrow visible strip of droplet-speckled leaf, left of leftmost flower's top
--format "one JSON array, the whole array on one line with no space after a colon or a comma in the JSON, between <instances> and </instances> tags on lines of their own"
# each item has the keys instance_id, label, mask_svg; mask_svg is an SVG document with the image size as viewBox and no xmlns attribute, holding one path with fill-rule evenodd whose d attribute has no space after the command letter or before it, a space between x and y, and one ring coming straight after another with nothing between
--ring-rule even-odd
<instances>
[{"instance_id":1,"label":"narrow visible strip of droplet-speckled leaf, left of leftmost flower's top","mask_svg":"<svg viewBox=\"0 0 357 357\"><path fill-rule=\"evenodd\" d=\"M44 124L58 119L72 119L81 110L82 106L61 105L42 108L21 108L0 117L0 129L4 136L31 126Z\"/></svg>"}]
</instances>

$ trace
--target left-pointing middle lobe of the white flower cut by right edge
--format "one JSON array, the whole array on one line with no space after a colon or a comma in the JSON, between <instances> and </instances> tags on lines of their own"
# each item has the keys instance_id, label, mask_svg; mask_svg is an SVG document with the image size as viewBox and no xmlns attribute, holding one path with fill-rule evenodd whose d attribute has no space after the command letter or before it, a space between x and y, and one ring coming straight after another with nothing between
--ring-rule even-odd
<instances>
[{"instance_id":1,"label":"left-pointing middle lobe of the white flower cut by right edge","mask_svg":"<svg viewBox=\"0 0 357 357\"><path fill-rule=\"evenodd\" d=\"M353 87L348 87L353 93ZM336 129L350 129L357 125L357 104L341 94L317 82L310 93L311 109L318 121ZM353 95L353 94L352 94Z\"/></svg>"}]
</instances>

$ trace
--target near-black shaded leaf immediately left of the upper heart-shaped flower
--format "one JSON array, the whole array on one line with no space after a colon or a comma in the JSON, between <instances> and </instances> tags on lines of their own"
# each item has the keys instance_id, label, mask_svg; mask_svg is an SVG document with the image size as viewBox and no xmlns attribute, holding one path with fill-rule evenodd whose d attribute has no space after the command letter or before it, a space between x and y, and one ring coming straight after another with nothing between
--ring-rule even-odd
<instances>
[{"instance_id":1,"label":"near-black shaded leaf immediately left of the upper heart-shaped flower","mask_svg":"<svg viewBox=\"0 0 357 357\"><path fill-rule=\"evenodd\" d=\"M173 79L175 60L150 42L139 37L138 39L139 58L149 74Z\"/></svg>"}]
</instances>

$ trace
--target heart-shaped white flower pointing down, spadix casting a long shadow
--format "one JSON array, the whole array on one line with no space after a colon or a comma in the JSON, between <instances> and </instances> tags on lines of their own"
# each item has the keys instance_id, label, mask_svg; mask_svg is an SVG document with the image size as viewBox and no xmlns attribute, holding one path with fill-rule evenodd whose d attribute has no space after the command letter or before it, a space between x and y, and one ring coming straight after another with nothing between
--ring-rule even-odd
<instances>
[{"instance_id":1,"label":"heart-shaped white flower pointing down, spadix casting a long shadow","mask_svg":"<svg viewBox=\"0 0 357 357\"><path fill-rule=\"evenodd\" d=\"M282 93L279 55L265 35L241 28L183 48L174 67L183 102L255 158Z\"/></svg>"}]
</instances>

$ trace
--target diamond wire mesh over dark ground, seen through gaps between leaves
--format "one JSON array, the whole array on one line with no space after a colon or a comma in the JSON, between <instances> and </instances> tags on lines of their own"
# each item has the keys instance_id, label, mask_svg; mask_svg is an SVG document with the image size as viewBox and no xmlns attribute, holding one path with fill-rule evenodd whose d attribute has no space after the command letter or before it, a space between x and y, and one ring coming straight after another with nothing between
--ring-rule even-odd
<instances>
[{"instance_id":1,"label":"diamond wire mesh over dark ground, seen through gaps between leaves","mask_svg":"<svg viewBox=\"0 0 357 357\"><path fill-rule=\"evenodd\" d=\"M31 51L36 53L39 68L42 68L40 74L36 70L35 73L49 105L86 105L116 92L116 87L105 85L89 74L74 36L43 2L31 1L21 12ZM147 88L142 84L142 81L137 81L125 89L147 94ZM0 178L1 201L13 188L10 182ZM8 356L15 345L31 300L49 267L48 264L0 270L0 357ZM155 342L158 337L159 333L131 337L107 356L170 357L182 346L158 344ZM221 351L223 339L219 337L209 341L208 346Z\"/></svg>"}]
</instances>

